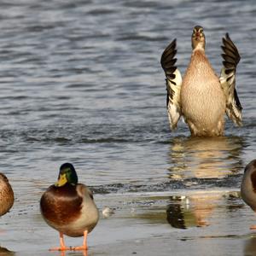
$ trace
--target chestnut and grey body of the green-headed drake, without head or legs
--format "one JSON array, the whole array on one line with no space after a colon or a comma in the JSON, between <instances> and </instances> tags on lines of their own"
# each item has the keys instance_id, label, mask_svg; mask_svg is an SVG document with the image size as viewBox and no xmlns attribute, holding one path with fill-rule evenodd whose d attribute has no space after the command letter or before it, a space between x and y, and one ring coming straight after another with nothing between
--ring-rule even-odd
<instances>
[{"instance_id":1,"label":"chestnut and grey body of the green-headed drake, without head or legs","mask_svg":"<svg viewBox=\"0 0 256 256\"><path fill-rule=\"evenodd\" d=\"M84 236L96 226L99 213L90 189L84 184L51 185L40 201L41 212L49 226L67 236Z\"/></svg>"}]
</instances>

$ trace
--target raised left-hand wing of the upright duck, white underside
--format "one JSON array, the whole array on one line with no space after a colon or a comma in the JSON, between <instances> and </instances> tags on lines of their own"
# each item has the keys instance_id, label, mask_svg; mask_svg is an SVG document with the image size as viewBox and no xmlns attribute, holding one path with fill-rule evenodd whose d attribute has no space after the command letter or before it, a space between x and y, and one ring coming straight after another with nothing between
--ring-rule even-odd
<instances>
[{"instance_id":1,"label":"raised left-hand wing of the upright duck, white underside","mask_svg":"<svg viewBox=\"0 0 256 256\"><path fill-rule=\"evenodd\" d=\"M176 39L174 39L172 43L169 44L164 50L160 61L161 66L166 73L166 108L172 130L176 129L177 122L182 115L180 105L180 88L182 84L182 77L175 66L177 59L175 59L174 56L176 53Z\"/></svg>"}]
</instances>

